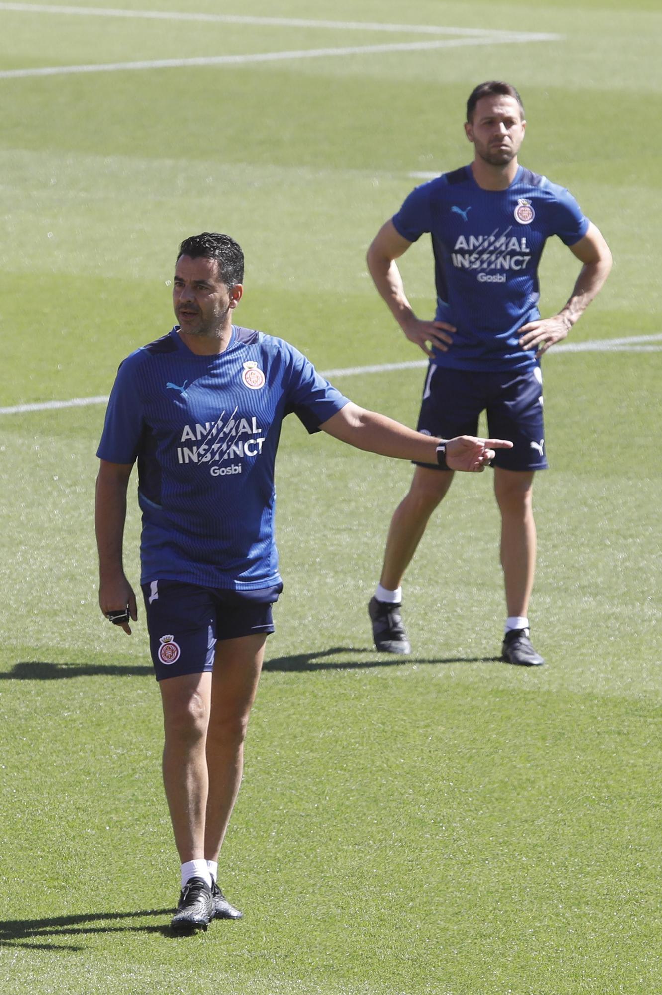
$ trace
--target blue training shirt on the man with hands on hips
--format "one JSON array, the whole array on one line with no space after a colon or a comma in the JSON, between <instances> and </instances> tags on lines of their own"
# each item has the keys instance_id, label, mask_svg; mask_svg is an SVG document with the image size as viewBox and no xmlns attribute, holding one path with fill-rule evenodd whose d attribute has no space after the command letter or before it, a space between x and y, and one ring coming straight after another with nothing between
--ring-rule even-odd
<instances>
[{"instance_id":1,"label":"blue training shirt on the man with hands on hips","mask_svg":"<svg viewBox=\"0 0 662 995\"><path fill-rule=\"evenodd\" d=\"M423 183L393 218L409 242L429 232L436 320L457 331L439 366L510 370L536 364L519 345L523 324L540 317L538 266L545 242L575 245L588 231L573 195L523 166L506 190L483 190L470 166Z\"/></svg>"}]
</instances>

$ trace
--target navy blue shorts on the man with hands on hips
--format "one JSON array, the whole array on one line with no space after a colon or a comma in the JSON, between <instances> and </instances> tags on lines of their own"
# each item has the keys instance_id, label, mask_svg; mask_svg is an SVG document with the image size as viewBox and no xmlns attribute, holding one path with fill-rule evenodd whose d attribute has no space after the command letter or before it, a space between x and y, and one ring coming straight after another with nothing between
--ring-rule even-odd
<instances>
[{"instance_id":1,"label":"navy blue shorts on the man with hands on hips","mask_svg":"<svg viewBox=\"0 0 662 995\"><path fill-rule=\"evenodd\" d=\"M514 444L512 449L496 451L494 466L505 470L547 469L540 366L511 373L483 373L429 364L418 432L442 439L475 436L483 411L487 412L489 435Z\"/></svg>"}]
</instances>

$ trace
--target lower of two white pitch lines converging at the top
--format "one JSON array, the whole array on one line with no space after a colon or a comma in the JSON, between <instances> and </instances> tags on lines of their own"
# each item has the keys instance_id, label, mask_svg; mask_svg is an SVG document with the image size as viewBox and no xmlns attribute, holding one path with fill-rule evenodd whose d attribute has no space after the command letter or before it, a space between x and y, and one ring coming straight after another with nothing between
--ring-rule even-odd
<instances>
[{"instance_id":1,"label":"lower of two white pitch lines converging at the top","mask_svg":"<svg viewBox=\"0 0 662 995\"><path fill-rule=\"evenodd\" d=\"M192 59L153 59L127 63L89 63L81 66L44 66L36 69L10 69L0 72L0 80L20 80L36 76L69 76L74 73L118 73L143 69L182 69L194 66L243 66L248 63L283 62L293 59L323 59L329 56L377 55L385 52L423 52L475 45L519 44L518 35L503 38L448 38L439 42L399 42L390 45L357 45L334 49L298 49L293 52L255 52L236 56L199 56Z\"/></svg>"}]
</instances>

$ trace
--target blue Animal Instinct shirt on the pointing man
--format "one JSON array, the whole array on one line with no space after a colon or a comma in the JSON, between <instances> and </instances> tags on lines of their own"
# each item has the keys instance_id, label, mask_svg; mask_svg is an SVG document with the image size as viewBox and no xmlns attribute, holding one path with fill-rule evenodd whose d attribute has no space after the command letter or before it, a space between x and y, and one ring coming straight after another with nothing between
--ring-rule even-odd
<instances>
[{"instance_id":1,"label":"blue Animal Instinct shirt on the pointing man","mask_svg":"<svg viewBox=\"0 0 662 995\"><path fill-rule=\"evenodd\" d=\"M253 590L280 581L273 465L282 419L309 432L348 403L298 349L233 325L199 356L176 325L117 371L97 456L138 461L141 583Z\"/></svg>"}]
</instances>

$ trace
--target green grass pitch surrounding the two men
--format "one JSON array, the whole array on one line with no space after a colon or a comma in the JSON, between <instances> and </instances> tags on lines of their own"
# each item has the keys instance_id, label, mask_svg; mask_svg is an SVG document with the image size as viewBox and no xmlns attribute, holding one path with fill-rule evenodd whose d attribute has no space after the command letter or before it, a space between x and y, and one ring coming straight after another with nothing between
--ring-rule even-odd
<instances>
[{"instance_id":1,"label":"green grass pitch surrounding the two men","mask_svg":"<svg viewBox=\"0 0 662 995\"><path fill-rule=\"evenodd\" d=\"M0 4L0 407L106 394L119 360L171 326L175 247L204 229L246 250L242 323L320 369L419 358L372 288L365 250L413 173L468 160L464 101L489 78L523 95L522 161L573 190L614 253L573 339L662 332L657 0L106 6L120 2L262 20ZM442 38L463 43L7 75ZM403 268L431 313L422 240ZM550 245L544 312L576 272ZM178 862L143 623L127 639L96 607L103 408L0 415L3 995L662 991L660 344L545 359L540 673L496 659L489 472L457 480L433 519L407 579L414 652L392 660L373 651L365 606L411 470L286 424L285 590L220 871L245 918L185 940L167 930ZM409 423L421 380L336 378ZM136 581L138 529L132 501Z\"/></svg>"}]
</instances>

